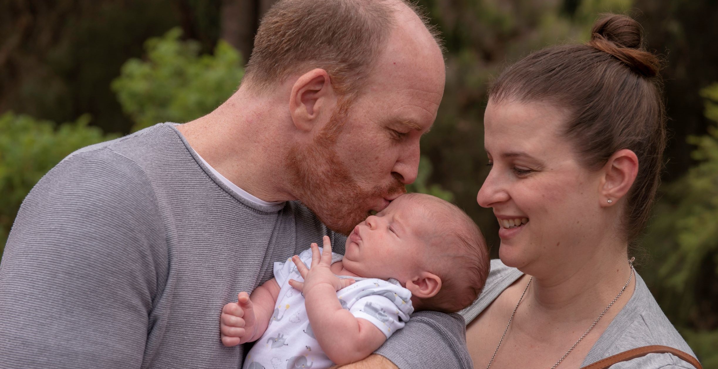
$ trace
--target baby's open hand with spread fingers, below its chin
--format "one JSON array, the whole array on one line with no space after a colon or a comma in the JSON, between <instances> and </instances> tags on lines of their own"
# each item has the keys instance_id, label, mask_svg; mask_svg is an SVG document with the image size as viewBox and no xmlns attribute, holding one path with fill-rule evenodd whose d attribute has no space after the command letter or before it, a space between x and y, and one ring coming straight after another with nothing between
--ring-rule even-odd
<instances>
[{"instance_id":1,"label":"baby's open hand with spread fingers, below its chin","mask_svg":"<svg viewBox=\"0 0 718 369\"><path fill-rule=\"evenodd\" d=\"M354 283L353 279L340 279L332 273L330 269L332 266L332 243L329 236L324 236L324 251L322 251L321 254L319 252L319 246L317 246L316 243L312 243L311 248L311 269L307 269L307 266L299 260L299 256L292 256L292 261L297 265L297 271L299 271L299 275L304 279L304 283L289 279L290 286L299 291L304 291L304 294L307 294L307 291L321 284L328 284L332 286L335 291L339 291Z\"/></svg>"}]
</instances>

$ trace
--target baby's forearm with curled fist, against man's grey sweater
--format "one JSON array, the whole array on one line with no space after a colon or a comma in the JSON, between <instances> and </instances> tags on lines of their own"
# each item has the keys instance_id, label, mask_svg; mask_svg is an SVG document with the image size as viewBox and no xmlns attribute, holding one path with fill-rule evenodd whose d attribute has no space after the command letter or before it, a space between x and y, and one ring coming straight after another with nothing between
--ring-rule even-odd
<instances>
[{"instance_id":1,"label":"baby's forearm with curled fist, against man's grey sweater","mask_svg":"<svg viewBox=\"0 0 718 369\"><path fill-rule=\"evenodd\" d=\"M258 340L264 335L274 304L279 296L279 284L270 279L258 286L249 296L246 292L237 295L237 302L230 302L220 315L220 336L227 347Z\"/></svg>"}]
</instances>

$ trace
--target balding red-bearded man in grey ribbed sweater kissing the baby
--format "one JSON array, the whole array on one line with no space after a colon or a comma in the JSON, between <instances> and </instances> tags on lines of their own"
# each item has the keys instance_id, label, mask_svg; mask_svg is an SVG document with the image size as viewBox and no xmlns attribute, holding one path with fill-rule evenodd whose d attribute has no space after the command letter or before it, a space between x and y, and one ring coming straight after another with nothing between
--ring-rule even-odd
<instances>
[{"instance_id":1,"label":"balding red-bearded man in grey ribbed sweater kissing the baby","mask_svg":"<svg viewBox=\"0 0 718 369\"><path fill-rule=\"evenodd\" d=\"M0 367L241 367L220 309L324 234L343 252L322 222L348 233L404 192L443 89L403 2L279 1L222 106L81 149L30 192L0 265ZM470 367L462 323L415 314L355 365Z\"/></svg>"}]
</instances>

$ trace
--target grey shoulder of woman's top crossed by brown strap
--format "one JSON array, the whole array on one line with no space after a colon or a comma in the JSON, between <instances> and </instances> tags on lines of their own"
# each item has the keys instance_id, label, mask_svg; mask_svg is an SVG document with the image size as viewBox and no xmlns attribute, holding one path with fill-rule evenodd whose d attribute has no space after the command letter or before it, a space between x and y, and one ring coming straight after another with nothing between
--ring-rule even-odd
<instances>
[{"instance_id":1,"label":"grey shoulder of woman's top crossed by brown strap","mask_svg":"<svg viewBox=\"0 0 718 369\"><path fill-rule=\"evenodd\" d=\"M636 274L635 290L628 303L593 345L583 365L595 363L636 347L663 345L695 357L691 347L663 314L643 279ZM611 368L694 368L671 354L649 354L613 365Z\"/></svg>"}]
</instances>

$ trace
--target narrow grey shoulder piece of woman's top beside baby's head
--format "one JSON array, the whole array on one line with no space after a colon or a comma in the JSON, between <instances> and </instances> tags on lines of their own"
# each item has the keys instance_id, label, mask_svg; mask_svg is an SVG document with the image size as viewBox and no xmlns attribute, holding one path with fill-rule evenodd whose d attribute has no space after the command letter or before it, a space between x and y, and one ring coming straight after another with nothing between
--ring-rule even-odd
<instances>
[{"instance_id":1,"label":"narrow grey shoulder piece of woman's top beside baby's head","mask_svg":"<svg viewBox=\"0 0 718 369\"><path fill-rule=\"evenodd\" d=\"M521 278L523 273L517 268L505 266L499 259L491 260L491 268L484 289L473 304L463 309L459 314L469 324L475 317L486 309L505 289Z\"/></svg>"}]
</instances>

